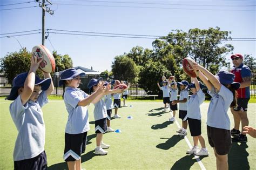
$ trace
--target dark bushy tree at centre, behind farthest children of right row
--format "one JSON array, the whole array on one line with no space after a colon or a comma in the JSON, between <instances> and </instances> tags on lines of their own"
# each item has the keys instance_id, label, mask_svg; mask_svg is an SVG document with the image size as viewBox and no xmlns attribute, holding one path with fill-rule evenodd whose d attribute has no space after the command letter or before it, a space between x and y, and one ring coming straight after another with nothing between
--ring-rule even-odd
<instances>
[{"instance_id":1,"label":"dark bushy tree at centre, behind farthest children of right row","mask_svg":"<svg viewBox=\"0 0 256 170\"><path fill-rule=\"evenodd\" d=\"M139 87L147 94L160 94L157 82L161 81L163 75L170 75L171 72L161 62L149 60L139 73Z\"/></svg>"}]
</instances>

